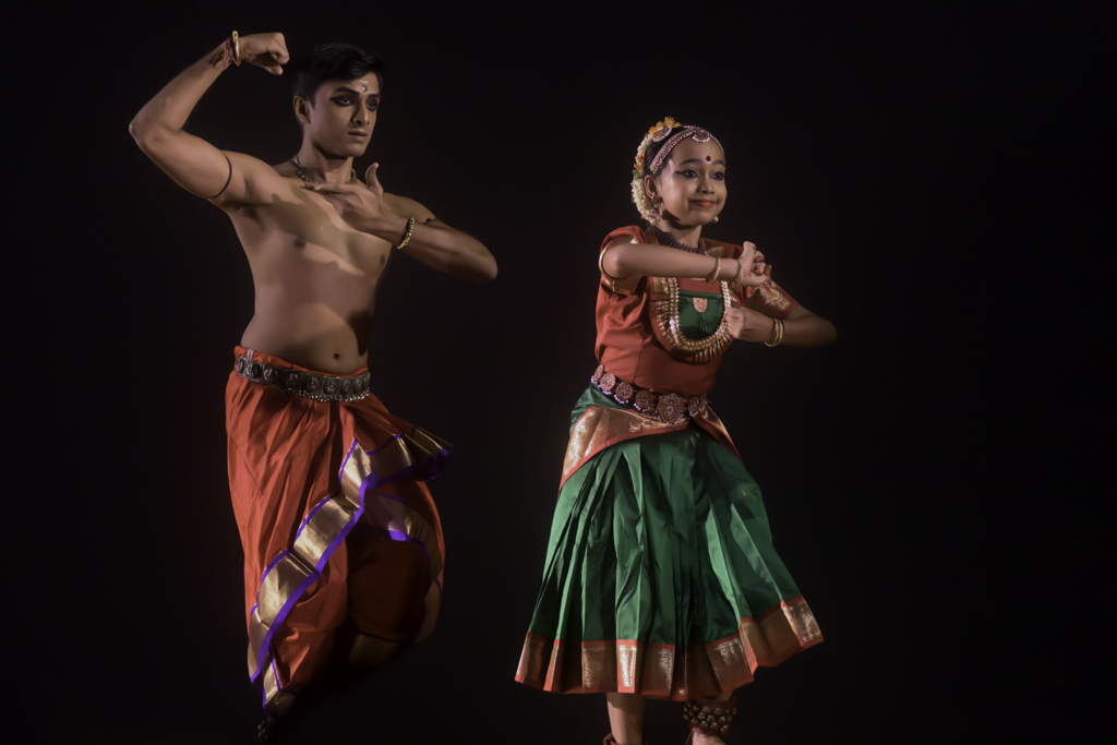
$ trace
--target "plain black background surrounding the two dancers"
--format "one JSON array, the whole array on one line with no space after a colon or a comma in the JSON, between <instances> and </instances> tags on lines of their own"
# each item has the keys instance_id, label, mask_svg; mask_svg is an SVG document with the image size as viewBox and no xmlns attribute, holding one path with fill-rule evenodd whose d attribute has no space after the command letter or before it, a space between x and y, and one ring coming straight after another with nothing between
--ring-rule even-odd
<instances>
[{"instance_id":1,"label":"plain black background surrounding the two dancers","mask_svg":"<svg viewBox=\"0 0 1117 745\"><path fill-rule=\"evenodd\" d=\"M1098 6L1100 7L1100 6ZM436 633L293 743L596 743L601 696L513 681L595 258L665 115L726 145L716 229L832 319L736 344L713 394L827 641L738 694L732 742L1101 742L1117 732L1113 18L1066 3L12 3L4 742L248 743L222 397L252 307L227 218L127 123L231 29L390 61L359 172L481 239L404 257L374 391L454 441ZM232 69L188 128L280 162L289 80ZM1104 256L1105 255L1105 256ZM758 346L758 348L757 348ZM1104 386L1104 383L1108 385ZM1110 551L1107 551L1109 548ZM16 734L19 732L20 734ZM651 743L681 743L677 704Z\"/></svg>"}]
</instances>

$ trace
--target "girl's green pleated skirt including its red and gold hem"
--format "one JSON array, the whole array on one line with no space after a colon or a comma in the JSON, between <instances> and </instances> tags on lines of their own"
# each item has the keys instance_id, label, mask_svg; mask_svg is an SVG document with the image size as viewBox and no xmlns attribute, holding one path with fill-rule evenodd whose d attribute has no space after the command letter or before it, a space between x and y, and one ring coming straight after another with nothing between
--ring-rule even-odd
<instances>
[{"instance_id":1,"label":"girl's green pleated skirt including its red and gold hem","mask_svg":"<svg viewBox=\"0 0 1117 745\"><path fill-rule=\"evenodd\" d=\"M592 405L618 408L591 388L574 421ZM694 699L821 640L756 481L691 424L608 447L566 479L516 679Z\"/></svg>"}]
</instances>

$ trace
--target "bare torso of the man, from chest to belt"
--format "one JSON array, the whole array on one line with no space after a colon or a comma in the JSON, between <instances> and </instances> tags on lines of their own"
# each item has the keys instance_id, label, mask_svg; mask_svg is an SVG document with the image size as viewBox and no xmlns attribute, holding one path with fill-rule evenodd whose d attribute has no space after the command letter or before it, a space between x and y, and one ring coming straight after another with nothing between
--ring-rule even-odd
<instances>
[{"instance_id":1,"label":"bare torso of the man, from chest to belt","mask_svg":"<svg viewBox=\"0 0 1117 745\"><path fill-rule=\"evenodd\" d=\"M302 189L290 163L275 173L270 203L226 208L256 288L241 344L312 370L352 372L367 363L376 283L392 247Z\"/></svg>"}]
</instances>

